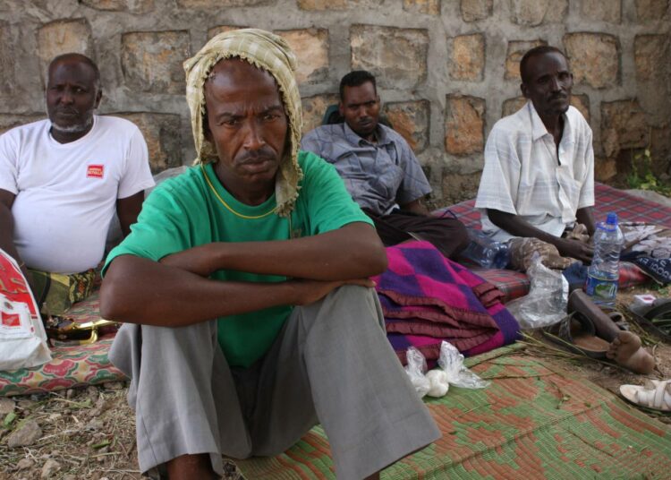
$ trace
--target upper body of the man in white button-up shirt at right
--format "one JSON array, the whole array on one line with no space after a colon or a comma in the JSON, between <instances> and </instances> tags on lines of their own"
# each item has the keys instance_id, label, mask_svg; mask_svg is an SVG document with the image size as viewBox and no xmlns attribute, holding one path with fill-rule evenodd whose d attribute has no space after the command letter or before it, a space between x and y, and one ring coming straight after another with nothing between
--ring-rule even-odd
<instances>
[{"instance_id":1,"label":"upper body of the man in white button-up shirt at right","mask_svg":"<svg viewBox=\"0 0 671 480\"><path fill-rule=\"evenodd\" d=\"M590 125L569 104L573 74L555 47L532 48L520 73L530 101L489 133L475 203L482 229L500 241L535 237L589 263L594 152Z\"/></svg>"}]
</instances>

